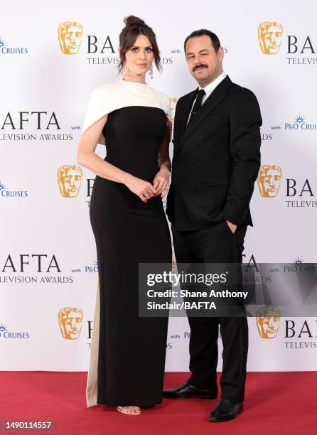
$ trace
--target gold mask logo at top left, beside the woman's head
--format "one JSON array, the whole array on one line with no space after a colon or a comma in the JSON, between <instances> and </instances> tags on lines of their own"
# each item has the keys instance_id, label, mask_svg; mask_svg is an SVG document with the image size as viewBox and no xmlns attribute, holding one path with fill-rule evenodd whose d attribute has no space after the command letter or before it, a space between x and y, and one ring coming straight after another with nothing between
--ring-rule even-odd
<instances>
[{"instance_id":1,"label":"gold mask logo at top left, beside the woman's head","mask_svg":"<svg viewBox=\"0 0 317 435\"><path fill-rule=\"evenodd\" d=\"M65 21L58 26L58 41L64 54L76 54L82 42L82 25L76 21Z\"/></svg>"}]
</instances>

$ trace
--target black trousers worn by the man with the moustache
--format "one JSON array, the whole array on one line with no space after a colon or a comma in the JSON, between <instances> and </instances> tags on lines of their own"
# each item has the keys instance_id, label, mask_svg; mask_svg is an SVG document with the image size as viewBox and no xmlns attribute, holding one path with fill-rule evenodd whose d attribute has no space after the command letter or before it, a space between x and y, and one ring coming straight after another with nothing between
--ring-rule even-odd
<instances>
[{"instance_id":1,"label":"black trousers worn by the man with the moustache","mask_svg":"<svg viewBox=\"0 0 317 435\"><path fill-rule=\"evenodd\" d=\"M242 263L247 226L232 233L225 220L203 230L176 231L172 224L177 263ZM181 271L178 270L178 273ZM239 285L235 290L241 289ZM248 350L247 316L188 317L190 372L194 387L217 391L218 325L222 337L222 399L243 402Z\"/></svg>"}]
</instances>

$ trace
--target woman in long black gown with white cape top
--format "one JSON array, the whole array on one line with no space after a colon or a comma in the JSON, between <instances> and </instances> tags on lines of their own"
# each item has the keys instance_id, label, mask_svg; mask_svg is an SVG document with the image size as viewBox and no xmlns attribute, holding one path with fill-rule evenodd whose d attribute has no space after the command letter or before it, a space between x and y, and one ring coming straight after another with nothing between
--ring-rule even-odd
<instances>
[{"instance_id":1,"label":"woman in long black gown with white cape top","mask_svg":"<svg viewBox=\"0 0 317 435\"><path fill-rule=\"evenodd\" d=\"M161 198L171 163L171 104L146 84L160 67L152 29L130 16L120 33L121 80L97 87L88 104L77 161L96 173L90 200L99 286L92 331L87 406L125 414L161 403L167 318L138 316L138 263L170 263ZM107 156L95 154L106 144Z\"/></svg>"}]
</instances>

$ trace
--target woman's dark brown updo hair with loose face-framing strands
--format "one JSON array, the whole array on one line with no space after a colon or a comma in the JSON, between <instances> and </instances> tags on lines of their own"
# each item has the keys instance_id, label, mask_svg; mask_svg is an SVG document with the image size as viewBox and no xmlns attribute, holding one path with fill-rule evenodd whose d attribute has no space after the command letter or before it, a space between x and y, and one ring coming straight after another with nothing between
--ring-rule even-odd
<instances>
[{"instance_id":1,"label":"woman's dark brown updo hair with loose face-framing strands","mask_svg":"<svg viewBox=\"0 0 317 435\"><path fill-rule=\"evenodd\" d=\"M159 52L159 47L156 43L156 36L151 27L149 27L141 18L137 16L130 15L124 18L124 23L126 26L122 29L119 35L119 47L120 47L120 63L118 65L119 73L122 72L124 61L126 58L126 53L130 48L133 47L136 38L139 35L144 35L149 38L152 45L154 62L156 68L161 70L161 56Z\"/></svg>"}]
</instances>

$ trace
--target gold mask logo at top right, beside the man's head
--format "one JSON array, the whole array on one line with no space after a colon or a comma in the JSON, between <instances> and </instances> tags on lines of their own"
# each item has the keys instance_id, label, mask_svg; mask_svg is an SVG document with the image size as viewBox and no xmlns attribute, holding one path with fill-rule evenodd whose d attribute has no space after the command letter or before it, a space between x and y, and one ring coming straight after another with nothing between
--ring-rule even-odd
<instances>
[{"instance_id":1,"label":"gold mask logo at top right, beside the man's head","mask_svg":"<svg viewBox=\"0 0 317 435\"><path fill-rule=\"evenodd\" d=\"M283 26L277 21L264 21L258 27L259 45L262 53L276 54L279 52L281 45L281 36L283 34Z\"/></svg>"}]
</instances>

